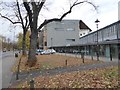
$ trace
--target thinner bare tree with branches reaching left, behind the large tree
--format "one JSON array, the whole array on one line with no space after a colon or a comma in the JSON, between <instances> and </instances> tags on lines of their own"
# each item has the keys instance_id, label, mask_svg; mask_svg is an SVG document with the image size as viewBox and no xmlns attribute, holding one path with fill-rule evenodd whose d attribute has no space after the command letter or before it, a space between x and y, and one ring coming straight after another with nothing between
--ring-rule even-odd
<instances>
[{"instance_id":1,"label":"thinner bare tree with branches reaching left, behind the large tree","mask_svg":"<svg viewBox=\"0 0 120 90\"><path fill-rule=\"evenodd\" d=\"M22 29L23 29L22 54L26 55L26 41L25 41L26 39L25 38L26 38L27 30L29 28L28 15L26 15L25 17L22 17L18 0L16 0L16 2L13 3L11 6L7 5L7 4L5 4L5 5L7 7L12 7L13 8L14 15L12 15L12 17L16 17L17 20L13 21L13 19L10 18L10 16L2 15L1 13L0 13L0 15L1 15L2 18L5 18L8 21L10 21L12 24L21 24Z\"/></svg>"}]
</instances>

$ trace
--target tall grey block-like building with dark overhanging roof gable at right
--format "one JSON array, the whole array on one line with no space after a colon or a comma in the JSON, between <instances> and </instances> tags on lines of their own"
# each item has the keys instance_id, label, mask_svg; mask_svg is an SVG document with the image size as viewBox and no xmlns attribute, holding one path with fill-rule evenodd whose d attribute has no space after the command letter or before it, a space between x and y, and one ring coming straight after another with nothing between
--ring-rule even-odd
<instances>
[{"instance_id":1,"label":"tall grey block-like building with dark overhanging roof gable at right","mask_svg":"<svg viewBox=\"0 0 120 90\"><path fill-rule=\"evenodd\" d=\"M82 20L55 21L43 28L43 47L70 46L78 44L79 38L87 35L91 29Z\"/></svg>"}]
</instances>

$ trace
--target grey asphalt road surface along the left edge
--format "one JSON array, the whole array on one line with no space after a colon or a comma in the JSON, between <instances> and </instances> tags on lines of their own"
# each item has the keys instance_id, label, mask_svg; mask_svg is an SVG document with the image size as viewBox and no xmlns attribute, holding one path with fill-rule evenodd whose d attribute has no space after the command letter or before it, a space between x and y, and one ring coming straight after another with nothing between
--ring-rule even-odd
<instances>
[{"instance_id":1,"label":"grey asphalt road surface along the left edge","mask_svg":"<svg viewBox=\"0 0 120 90\"><path fill-rule=\"evenodd\" d=\"M14 57L13 51L3 52L0 55L0 89L1 88L7 88L9 86L12 72L11 68L13 64L15 63L16 59Z\"/></svg>"}]
</instances>

